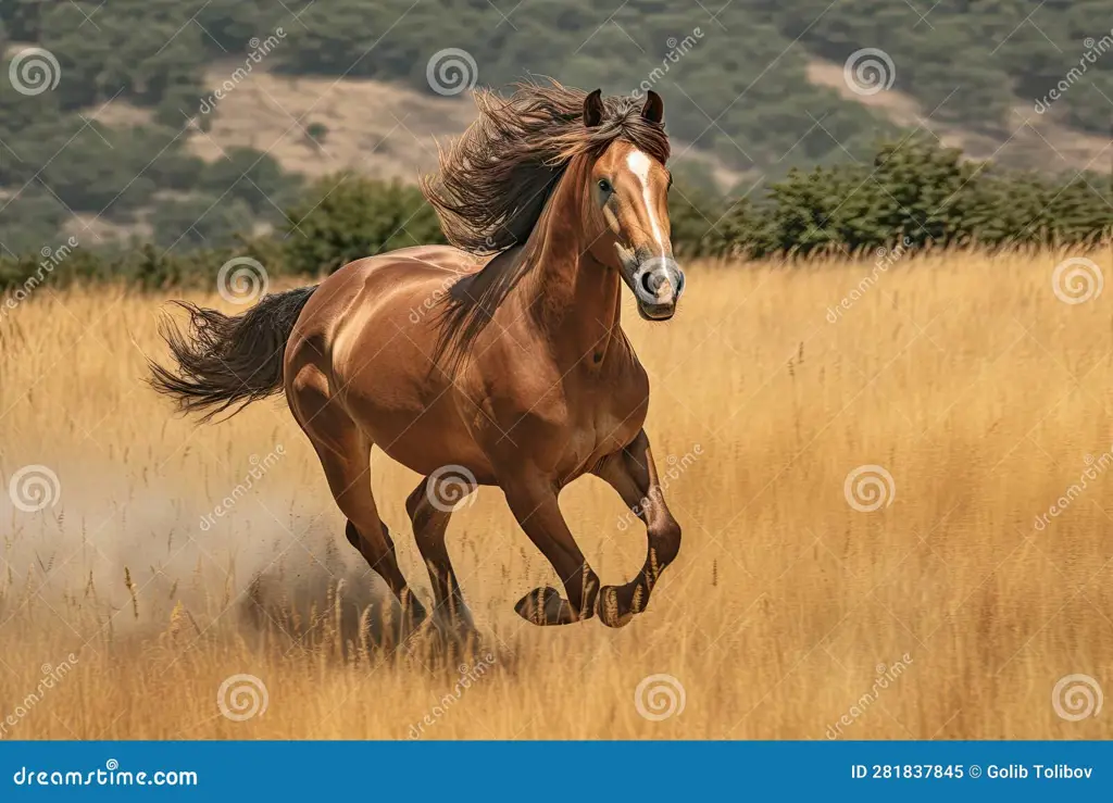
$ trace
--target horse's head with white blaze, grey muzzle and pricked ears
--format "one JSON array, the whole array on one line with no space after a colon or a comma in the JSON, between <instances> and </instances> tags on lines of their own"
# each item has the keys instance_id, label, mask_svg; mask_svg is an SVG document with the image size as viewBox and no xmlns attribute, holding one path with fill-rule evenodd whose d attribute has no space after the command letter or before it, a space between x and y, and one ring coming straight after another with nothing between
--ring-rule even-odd
<instances>
[{"instance_id":1,"label":"horse's head with white blaze, grey muzzle and pricked ears","mask_svg":"<svg viewBox=\"0 0 1113 803\"><path fill-rule=\"evenodd\" d=\"M583 101L588 128L603 123L600 90ZM646 123L660 126L664 105L650 91L641 109ZM658 159L618 138L595 159L589 172L591 254L617 268L648 320L668 320L684 289L684 274L672 258L669 187L672 177Z\"/></svg>"}]
</instances>

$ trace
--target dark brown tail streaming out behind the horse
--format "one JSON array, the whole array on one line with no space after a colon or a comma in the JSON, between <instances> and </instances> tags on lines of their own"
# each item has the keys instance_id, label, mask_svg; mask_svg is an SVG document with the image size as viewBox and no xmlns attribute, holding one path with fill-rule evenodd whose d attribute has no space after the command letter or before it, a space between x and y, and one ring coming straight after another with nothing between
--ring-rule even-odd
<instances>
[{"instance_id":1,"label":"dark brown tail streaming out behind the horse","mask_svg":"<svg viewBox=\"0 0 1113 803\"><path fill-rule=\"evenodd\" d=\"M189 313L189 324L185 330L169 320L160 327L177 367L148 360L151 386L185 413L204 410L201 420L278 393L286 341L316 289L276 293L235 316L175 301Z\"/></svg>"}]
</instances>

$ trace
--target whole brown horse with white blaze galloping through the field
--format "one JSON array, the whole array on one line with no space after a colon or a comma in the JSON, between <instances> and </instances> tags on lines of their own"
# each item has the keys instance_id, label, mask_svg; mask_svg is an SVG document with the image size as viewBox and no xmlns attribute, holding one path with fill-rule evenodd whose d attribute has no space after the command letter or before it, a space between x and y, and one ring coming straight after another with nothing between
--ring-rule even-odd
<instances>
[{"instance_id":1,"label":"whole brown horse with white blaze galloping through the field","mask_svg":"<svg viewBox=\"0 0 1113 803\"><path fill-rule=\"evenodd\" d=\"M455 247L359 259L236 317L183 305L189 330L165 333L177 367L152 365L152 383L206 417L284 389L347 539L414 623L425 611L372 497L372 446L424 476L406 509L435 612L471 625L445 529L476 485L498 485L567 596L538 588L518 613L618 627L680 547L642 429L649 380L619 321L622 281L650 320L670 318L683 289L661 99L553 83L476 102L480 119L423 185ZM626 585L600 587L558 506L587 473L646 524L646 564Z\"/></svg>"}]
</instances>

